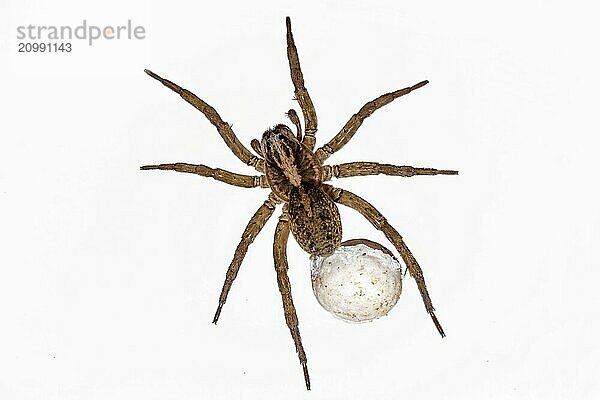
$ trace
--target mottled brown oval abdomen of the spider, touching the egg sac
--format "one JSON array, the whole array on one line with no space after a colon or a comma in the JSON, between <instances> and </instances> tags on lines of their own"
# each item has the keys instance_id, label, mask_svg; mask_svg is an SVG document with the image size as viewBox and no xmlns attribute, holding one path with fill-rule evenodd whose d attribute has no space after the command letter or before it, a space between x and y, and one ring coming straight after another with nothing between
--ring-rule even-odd
<instances>
[{"instance_id":1,"label":"mottled brown oval abdomen of the spider, touching the egg sac","mask_svg":"<svg viewBox=\"0 0 600 400\"><path fill-rule=\"evenodd\" d=\"M321 188L294 187L289 195L290 230L309 254L333 253L342 241L342 222L337 206Z\"/></svg>"}]
</instances>

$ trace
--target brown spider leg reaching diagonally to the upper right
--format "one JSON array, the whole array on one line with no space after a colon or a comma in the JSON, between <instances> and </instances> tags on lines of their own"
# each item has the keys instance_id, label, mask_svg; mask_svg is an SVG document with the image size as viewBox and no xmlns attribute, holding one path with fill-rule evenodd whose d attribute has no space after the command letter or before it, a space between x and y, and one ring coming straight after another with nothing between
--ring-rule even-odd
<instances>
[{"instance_id":1,"label":"brown spider leg reaching diagonally to the upper right","mask_svg":"<svg viewBox=\"0 0 600 400\"><path fill-rule=\"evenodd\" d=\"M405 94L408 94L413 90L423 87L428 83L429 81L419 82L416 85L383 94L375 100L369 101L367 104L362 106L362 108L356 114L350 117L348 122L346 122L346 125L344 125L342 130L337 135L335 135L333 139L331 139L324 146L319 147L317 151L315 151L315 155L322 163L330 155L332 155L333 153L341 149L346 143L348 143L348 141L352 139L352 136L354 136L358 128L362 125L363 121L371 114L373 114L376 110L385 106L386 104L391 103L398 97L404 96Z\"/></svg>"}]
</instances>

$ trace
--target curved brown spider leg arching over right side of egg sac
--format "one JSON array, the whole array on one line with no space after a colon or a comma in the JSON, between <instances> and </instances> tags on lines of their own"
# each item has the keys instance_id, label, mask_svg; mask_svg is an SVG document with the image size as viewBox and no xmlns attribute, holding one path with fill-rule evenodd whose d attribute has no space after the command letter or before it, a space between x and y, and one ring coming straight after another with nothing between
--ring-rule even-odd
<instances>
[{"instance_id":1,"label":"curved brown spider leg arching over right side of egg sac","mask_svg":"<svg viewBox=\"0 0 600 400\"><path fill-rule=\"evenodd\" d=\"M337 189L329 185L323 185L323 189L329 194L329 196L333 199L333 201L343 204L347 207L353 208L359 213L361 213L373 226L382 231L385 237L396 247L410 275L417 282L417 287L419 288L419 292L421 293L421 297L423 298L423 303L425 304L425 309L427 313L431 316L435 327L442 337L446 336L440 322L435 316L435 308L433 308L433 304L431 303L431 298L429 297L429 292L427 291L427 286L425 285L425 278L423 277L423 270L419 266L419 263L412 255L411 251L402 240L402 236L391 226L385 217L377 211L375 207L373 207L366 200L361 197L355 195L352 192L347 190Z\"/></svg>"}]
</instances>

